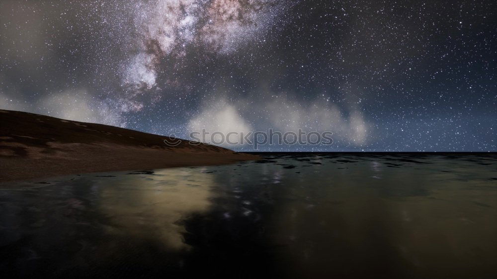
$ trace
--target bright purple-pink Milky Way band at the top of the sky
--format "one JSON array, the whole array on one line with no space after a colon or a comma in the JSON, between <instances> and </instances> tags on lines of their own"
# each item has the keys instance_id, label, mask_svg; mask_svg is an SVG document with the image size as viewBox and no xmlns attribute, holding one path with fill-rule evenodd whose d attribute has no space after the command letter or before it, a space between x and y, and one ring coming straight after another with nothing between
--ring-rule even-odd
<instances>
[{"instance_id":1,"label":"bright purple-pink Milky Way band at the top of the sky","mask_svg":"<svg viewBox=\"0 0 497 279\"><path fill-rule=\"evenodd\" d=\"M291 4L277 0L162 0L137 4L137 54L124 67L123 82L135 91L158 84L158 71L174 70L190 44L230 54L257 40ZM164 59L175 59L173 64ZM137 108L140 109L141 107Z\"/></svg>"}]
</instances>

